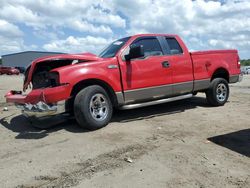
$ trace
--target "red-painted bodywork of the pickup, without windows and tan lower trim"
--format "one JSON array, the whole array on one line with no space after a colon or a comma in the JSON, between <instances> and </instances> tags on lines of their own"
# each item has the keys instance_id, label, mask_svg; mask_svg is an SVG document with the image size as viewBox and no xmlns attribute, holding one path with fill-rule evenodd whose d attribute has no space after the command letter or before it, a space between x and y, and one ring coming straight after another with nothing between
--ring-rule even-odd
<instances>
[{"instance_id":1,"label":"red-painted bodywork of the pickup, without windows and tan lower trim","mask_svg":"<svg viewBox=\"0 0 250 188\"><path fill-rule=\"evenodd\" d=\"M133 60L131 62L122 60L121 56L124 50L135 39L142 36L174 37L182 47L183 54L151 56L143 60ZM132 36L114 58L99 58L90 53L62 54L39 58L30 67L24 90L32 79L36 65L53 59L78 59L87 62L52 70L59 73L60 83L66 85L34 89L27 96L8 93L6 95L7 102L23 104L36 103L42 100L47 103L53 103L65 100L70 97L74 85L88 79L101 80L113 88L115 92L122 92L131 89L210 79L219 68L226 69L230 75L240 74L237 50L212 50L189 53L187 47L177 35L143 34ZM162 67L162 62L164 61L169 62L169 68ZM109 65L116 65L118 68L109 69Z\"/></svg>"}]
</instances>

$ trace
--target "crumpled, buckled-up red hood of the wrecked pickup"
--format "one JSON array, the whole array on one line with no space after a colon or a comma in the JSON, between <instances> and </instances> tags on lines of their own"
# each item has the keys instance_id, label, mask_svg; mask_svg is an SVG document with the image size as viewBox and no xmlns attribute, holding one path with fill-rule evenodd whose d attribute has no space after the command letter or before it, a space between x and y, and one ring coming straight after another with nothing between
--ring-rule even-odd
<instances>
[{"instance_id":1,"label":"crumpled, buckled-up red hood of the wrecked pickup","mask_svg":"<svg viewBox=\"0 0 250 188\"><path fill-rule=\"evenodd\" d=\"M72 61L78 60L80 62L90 62L90 61L96 62L96 61L101 61L102 59L103 58L100 58L92 53L60 54L60 55L53 55L53 56L46 56L46 57L38 58L31 63L31 65L27 68L25 72L23 91L25 91L28 88L28 85L30 84L32 80L32 75L35 71L35 68L42 63L45 63L48 61L53 62L57 60L72 60ZM65 66L65 64L62 64L62 66Z\"/></svg>"}]
</instances>

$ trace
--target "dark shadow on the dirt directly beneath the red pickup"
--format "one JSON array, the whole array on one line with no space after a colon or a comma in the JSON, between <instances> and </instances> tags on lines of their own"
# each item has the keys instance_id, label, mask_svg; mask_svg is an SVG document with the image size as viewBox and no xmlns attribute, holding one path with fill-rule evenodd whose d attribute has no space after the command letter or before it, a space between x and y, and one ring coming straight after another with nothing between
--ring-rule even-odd
<instances>
[{"instance_id":1,"label":"dark shadow on the dirt directly beneath the red pickup","mask_svg":"<svg viewBox=\"0 0 250 188\"><path fill-rule=\"evenodd\" d=\"M138 108L134 110L115 110L111 122L126 123L142 119L149 119L157 116L181 113L185 110L197 108L198 106L206 108L210 107L207 104L205 98L193 97L191 99ZM23 115L13 117L10 122L7 121L7 118L8 117L1 118L0 125L11 130L12 132L18 133L18 135L15 136L16 139L42 139L48 136L50 133L57 132L62 129L72 133L89 132L88 130L81 128L74 119L69 119L46 130L41 130L33 127L28 119Z\"/></svg>"}]
</instances>

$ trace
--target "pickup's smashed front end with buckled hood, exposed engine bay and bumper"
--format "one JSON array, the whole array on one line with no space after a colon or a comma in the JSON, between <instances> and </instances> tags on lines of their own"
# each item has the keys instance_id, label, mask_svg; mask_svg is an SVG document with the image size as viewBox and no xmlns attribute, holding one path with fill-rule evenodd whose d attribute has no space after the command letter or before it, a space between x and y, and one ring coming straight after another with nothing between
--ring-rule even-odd
<instances>
[{"instance_id":1,"label":"pickup's smashed front end with buckled hood, exposed engine bay and bumper","mask_svg":"<svg viewBox=\"0 0 250 188\"><path fill-rule=\"evenodd\" d=\"M51 120L52 117L65 115L70 110L67 109L67 102L71 98L72 86L60 82L60 77L64 76L59 74L60 69L97 60L98 57L90 53L62 54L37 59L24 75L23 92L27 89L31 91L23 94L12 90L5 95L6 102L14 103L26 117L35 121Z\"/></svg>"}]
</instances>

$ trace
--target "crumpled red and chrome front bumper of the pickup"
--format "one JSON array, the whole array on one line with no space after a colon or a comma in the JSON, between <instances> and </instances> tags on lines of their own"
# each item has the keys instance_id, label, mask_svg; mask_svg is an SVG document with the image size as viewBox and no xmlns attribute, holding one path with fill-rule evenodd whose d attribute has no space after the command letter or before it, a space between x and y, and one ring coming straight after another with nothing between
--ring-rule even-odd
<instances>
[{"instance_id":1,"label":"crumpled red and chrome front bumper of the pickup","mask_svg":"<svg viewBox=\"0 0 250 188\"><path fill-rule=\"evenodd\" d=\"M44 127L47 127L48 124L56 124L64 120L70 88L66 84L54 88L35 89L28 95L10 91L5 97L6 102L14 103L32 123L45 121Z\"/></svg>"}]
</instances>

